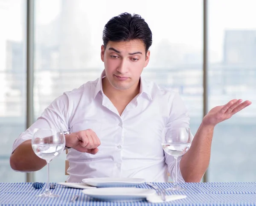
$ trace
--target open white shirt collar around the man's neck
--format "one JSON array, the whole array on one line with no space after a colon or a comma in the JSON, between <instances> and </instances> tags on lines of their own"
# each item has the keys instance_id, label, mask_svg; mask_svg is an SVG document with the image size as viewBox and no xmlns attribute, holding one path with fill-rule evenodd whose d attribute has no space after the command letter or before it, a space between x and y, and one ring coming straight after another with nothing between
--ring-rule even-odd
<instances>
[{"instance_id":1,"label":"open white shirt collar around the man's neck","mask_svg":"<svg viewBox=\"0 0 256 206\"><path fill-rule=\"evenodd\" d=\"M103 94L102 78L104 78L105 76L106 76L106 73L105 73L105 70L103 70L99 79L98 79L98 82L96 84L93 99L95 99L95 97L97 96L97 94L99 92L101 92ZM150 88L149 83L147 81L145 81L144 78L140 77L140 94L139 95L141 95L143 93L145 93L148 96L149 100L152 100L151 88Z\"/></svg>"}]
</instances>

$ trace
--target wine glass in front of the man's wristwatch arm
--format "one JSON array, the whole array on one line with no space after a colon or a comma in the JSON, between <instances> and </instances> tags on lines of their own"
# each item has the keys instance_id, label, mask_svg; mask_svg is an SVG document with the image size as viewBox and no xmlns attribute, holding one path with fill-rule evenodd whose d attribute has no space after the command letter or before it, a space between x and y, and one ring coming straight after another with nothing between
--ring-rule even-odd
<instances>
[{"instance_id":1,"label":"wine glass in front of the man's wristwatch arm","mask_svg":"<svg viewBox=\"0 0 256 206\"><path fill-rule=\"evenodd\" d=\"M59 197L49 191L49 162L64 150L66 140L63 131L55 129L35 129L31 144L35 154L47 162L47 183L45 192L37 197Z\"/></svg>"}]
</instances>

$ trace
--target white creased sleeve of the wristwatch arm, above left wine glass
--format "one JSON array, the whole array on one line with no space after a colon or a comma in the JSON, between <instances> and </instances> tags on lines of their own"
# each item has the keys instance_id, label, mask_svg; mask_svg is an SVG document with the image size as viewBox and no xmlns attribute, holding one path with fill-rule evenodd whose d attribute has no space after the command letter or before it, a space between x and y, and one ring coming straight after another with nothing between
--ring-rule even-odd
<instances>
[{"instance_id":1,"label":"white creased sleeve of the wristwatch arm, above left wine glass","mask_svg":"<svg viewBox=\"0 0 256 206\"><path fill-rule=\"evenodd\" d=\"M28 139L32 139L35 128L52 128L69 131L68 123L69 98L66 93L55 99L41 114L41 116L25 132L15 140L12 153L15 149Z\"/></svg>"}]
</instances>

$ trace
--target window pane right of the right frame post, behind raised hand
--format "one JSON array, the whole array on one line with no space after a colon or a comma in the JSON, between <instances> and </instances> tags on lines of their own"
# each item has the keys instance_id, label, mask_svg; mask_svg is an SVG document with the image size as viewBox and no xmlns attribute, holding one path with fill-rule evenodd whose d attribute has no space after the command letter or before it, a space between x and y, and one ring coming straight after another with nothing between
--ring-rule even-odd
<instances>
[{"instance_id":1,"label":"window pane right of the right frame post, behind raised hand","mask_svg":"<svg viewBox=\"0 0 256 206\"><path fill-rule=\"evenodd\" d=\"M254 103L217 125L210 182L256 181L255 7L254 0L209 0L209 109L231 99Z\"/></svg>"}]
</instances>

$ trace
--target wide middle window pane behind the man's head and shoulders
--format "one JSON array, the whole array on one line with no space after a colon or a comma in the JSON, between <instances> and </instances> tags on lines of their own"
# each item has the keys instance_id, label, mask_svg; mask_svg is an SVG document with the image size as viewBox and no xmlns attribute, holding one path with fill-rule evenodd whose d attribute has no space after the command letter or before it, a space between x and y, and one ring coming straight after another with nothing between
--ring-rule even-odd
<instances>
[{"instance_id":1,"label":"wide middle window pane behind the man's head and shoulders","mask_svg":"<svg viewBox=\"0 0 256 206\"><path fill-rule=\"evenodd\" d=\"M36 1L35 118L64 91L99 77L103 28L122 12L141 15L150 26L151 60L143 76L180 92L195 133L203 110L202 1L140 0L136 6L122 1L112 6L107 0L91 1L90 6L84 0ZM66 179L65 156L51 162L52 181ZM45 169L36 177L42 175L46 178Z\"/></svg>"}]
</instances>

